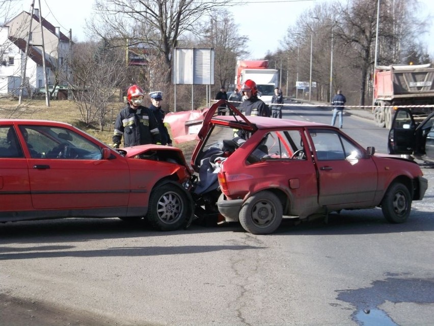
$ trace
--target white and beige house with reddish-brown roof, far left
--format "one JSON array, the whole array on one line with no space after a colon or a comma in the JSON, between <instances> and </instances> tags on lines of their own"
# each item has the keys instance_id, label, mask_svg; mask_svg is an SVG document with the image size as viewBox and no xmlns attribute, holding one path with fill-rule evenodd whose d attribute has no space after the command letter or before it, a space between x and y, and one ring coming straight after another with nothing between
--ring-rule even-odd
<instances>
[{"instance_id":1,"label":"white and beige house with reddish-brown roof, far left","mask_svg":"<svg viewBox=\"0 0 434 326\"><path fill-rule=\"evenodd\" d=\"M68 85L71 46L71 39L41 17L38 9L33 15L23 11L6 22L0 28L0 94L15 95L23 87L23 94L31 95L44 87L43 58L48 85ZM21 83L24 63L25 83Z\"/></svg>"}]
</instances>

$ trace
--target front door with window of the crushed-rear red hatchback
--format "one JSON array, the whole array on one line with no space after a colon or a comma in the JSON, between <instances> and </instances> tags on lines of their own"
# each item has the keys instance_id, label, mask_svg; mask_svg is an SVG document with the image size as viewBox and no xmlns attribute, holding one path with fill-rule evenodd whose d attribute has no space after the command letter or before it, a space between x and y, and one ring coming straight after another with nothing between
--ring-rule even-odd
<instances>
[{"instance_id":1,"label":"front door with window of the crushed-rear red hatchback","mask_svg":"<svg viewBox=\"0 0 434 326\"><path fill-rule=\"evenodd\" d=\"M377 169L356 142L334 129L309 129L321 206L372 203Z\"/></svg>"}]
</instances>

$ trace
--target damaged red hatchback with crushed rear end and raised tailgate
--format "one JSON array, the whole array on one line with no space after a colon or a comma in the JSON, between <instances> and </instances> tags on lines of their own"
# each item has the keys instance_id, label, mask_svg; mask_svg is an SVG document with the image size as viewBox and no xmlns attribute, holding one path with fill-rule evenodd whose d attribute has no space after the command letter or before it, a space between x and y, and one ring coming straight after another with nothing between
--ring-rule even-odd
<instances>
[{"instance_id":1,"label":"damaged red hatchback with crushed rear end and raised tailgate","mask_svg":"<svg viewBox=\"0 0 434 326\"><path fill-rule=\"evenodd\" d=\"M167 118L178 123L175 131L171 125L175 141L202 126L192 156L197 216L218 213L253 234L274 232L283 217L373 207L401 223L412 200L424 196L427 180L412 161L374 155L373 147L325 124L246 117L230 103L229 115L215 116L223 102L202 112L203 121L199 112L194 120L191 112Z\"/></svg>"}]
</instances>

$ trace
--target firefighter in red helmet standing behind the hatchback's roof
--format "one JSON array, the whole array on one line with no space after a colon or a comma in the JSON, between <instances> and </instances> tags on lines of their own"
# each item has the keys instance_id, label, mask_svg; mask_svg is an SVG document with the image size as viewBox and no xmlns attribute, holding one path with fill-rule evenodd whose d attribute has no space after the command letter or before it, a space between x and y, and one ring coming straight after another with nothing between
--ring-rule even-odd
<instances>
[{"instance_id":1,"label":"firefighter in red helmet standing behind the hatchback's roof","mask_svg":"<svg viewBox=\"0 0 434 326\"><path fill-rule=\"evenodd\" d=\"M244 95L244 101L239 105L238 110L241 110L244 115L270 116L270 109L258 98L258 88L254 81L248 79L244 82L241 93Z\"/></svg>"}]
</instances>

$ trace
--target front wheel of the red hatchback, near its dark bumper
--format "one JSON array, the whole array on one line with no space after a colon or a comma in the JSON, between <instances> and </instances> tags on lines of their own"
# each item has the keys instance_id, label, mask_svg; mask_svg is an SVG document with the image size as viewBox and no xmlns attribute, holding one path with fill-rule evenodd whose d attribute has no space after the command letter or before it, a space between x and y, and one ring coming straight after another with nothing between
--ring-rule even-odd
<instances>
[{"instance_id":1,"label":"front wheel of the red hatchback, near its dark bumper","mask_svg":"<svg viewBox=\"0 0 434 326\"><path fill-rule=\"evenodd\" d=\"M403 223L412 209L410 191L402 183L393 183L387 189L381 205L384 217L390 223Z\"/></svg>"}]
</instances>

